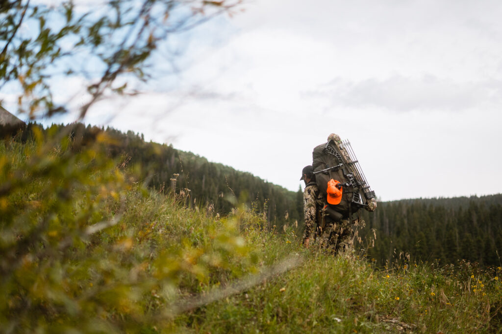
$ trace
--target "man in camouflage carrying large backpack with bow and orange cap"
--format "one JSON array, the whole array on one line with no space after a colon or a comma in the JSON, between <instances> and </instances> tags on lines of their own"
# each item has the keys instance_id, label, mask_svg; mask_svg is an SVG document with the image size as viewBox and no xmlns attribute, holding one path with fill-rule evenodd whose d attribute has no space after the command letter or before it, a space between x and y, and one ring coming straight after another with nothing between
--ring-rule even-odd
<instances>
[{"instance_id":1,"label":"man in camouflage carrying large backpack with bow and orange cap","mask_svg":"<svg viewBox=\"0 0 502 334\"><path fill-rule=\"evenodd\" d=\"M352 249L354 214L359 208L376 209L374 192L367 184L348 141L330 134L327 142L314 148L313 166L302 171L305 181L304 245L308 247L317 223L319 245L333 254ZM307 173L308 172L308 173ZM308 188L308 189L307 189ZM316 206L313 214L313 206Z\"/></svg>"}]
</instances>

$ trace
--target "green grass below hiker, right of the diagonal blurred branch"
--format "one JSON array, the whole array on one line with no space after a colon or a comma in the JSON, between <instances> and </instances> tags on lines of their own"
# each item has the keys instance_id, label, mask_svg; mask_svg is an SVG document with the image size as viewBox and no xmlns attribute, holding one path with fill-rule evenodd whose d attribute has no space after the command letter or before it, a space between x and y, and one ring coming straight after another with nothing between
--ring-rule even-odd
<instances>
[{"instance_id":1,"label":"green grass below hiker, right of the diagonal blurred branch","mask_svg":"<svg viewBox=\"0 0 502 334\"><path fill-rule=\"evenodd\" d=\"M501 330L502 286L487 272L473 292L427 264L382 271L353 256L303 256L297 268L181 318L203 332Z\"/></svg>"}]
</instances>

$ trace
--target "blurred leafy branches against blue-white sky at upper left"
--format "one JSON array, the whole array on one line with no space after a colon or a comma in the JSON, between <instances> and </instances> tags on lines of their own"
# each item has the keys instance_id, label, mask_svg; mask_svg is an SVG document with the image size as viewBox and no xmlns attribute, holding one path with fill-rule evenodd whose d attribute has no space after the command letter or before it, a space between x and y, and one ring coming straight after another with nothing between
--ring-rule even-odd
<instances>
[{"instance_id":1,"label":"blurred leafy branches against blue-white sky at upper left","mask_svg":"<svg viewBox=\"0 0 502 334\"><path fill-rule=\"evenodd\" d=\"M46 5L4 0L0 89L9 86L17 96L18 111L36 119L67 111L68 101L53 98L58 81L72 88L78 83L82 87L77 88L85 90L80 97L86 92L79 107L83 118L103 97L137 94L135 83L154 73L151 58L168 37L230 13L240 2L106 0L88 5L68 0Z\"/></svg>"}]
</instances>

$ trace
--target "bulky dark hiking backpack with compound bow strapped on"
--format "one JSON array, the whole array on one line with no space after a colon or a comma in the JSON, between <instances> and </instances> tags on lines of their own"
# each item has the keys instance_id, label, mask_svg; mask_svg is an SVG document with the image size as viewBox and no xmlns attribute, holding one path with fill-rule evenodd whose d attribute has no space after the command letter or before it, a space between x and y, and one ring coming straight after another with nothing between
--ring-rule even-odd
<instances>
[{"instance_id":1,"label":"bulky dark hiking backpack with compound bow strapped on","mask_svg":"<svg viewBox=\"0 0 502 334\"><path fill-rule=\"evenodd\" d=\"M325 207L332 220L351 219L360 208L368 211L376 209L375 193L366 181L348 140L342 142L338 135L330 135L328 142L314 148L312 160L317 187L324 199L327 199L328 184L333 184L330 180L340 183L337 188L341 190L341 200L338 204Z\"/></svg>"}]
</instances>

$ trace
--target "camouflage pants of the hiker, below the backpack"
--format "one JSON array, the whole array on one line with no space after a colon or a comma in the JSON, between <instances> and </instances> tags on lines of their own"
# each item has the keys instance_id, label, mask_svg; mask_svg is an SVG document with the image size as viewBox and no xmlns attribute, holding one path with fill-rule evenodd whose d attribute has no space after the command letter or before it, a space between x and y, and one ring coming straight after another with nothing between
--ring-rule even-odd
<instances>
[{"instance_id":1,"label":"camouflage pants of the hiker, below the backpack","mask_svg":"<svg viewBox=\"0 0 502 334\"><path fill-rule=\"evenodd\" d=\"M320 232L319 244L333 254L352 250L354 232L348 219L326 223Z\"/></svg>"}]
</instances>

